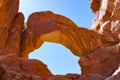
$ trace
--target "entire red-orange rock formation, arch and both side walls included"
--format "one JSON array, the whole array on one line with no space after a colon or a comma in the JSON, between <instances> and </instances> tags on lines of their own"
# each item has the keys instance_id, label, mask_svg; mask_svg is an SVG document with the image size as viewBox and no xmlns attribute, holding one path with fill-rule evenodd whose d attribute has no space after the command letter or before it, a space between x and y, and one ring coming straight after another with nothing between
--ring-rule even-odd
<instances>
[{"instance_id":1,"label":"entire red-orange rock formation, arch and both side walls included","mask_svg":"<svg viewBox=\"0 0 120 80\"><path fill-rule=\"evenodd\" d=\"M51 11L31 14L24 26L19 0L0 0L0 80L119 80L119 0L90 0L96 14L91 29ZM45 41L64 45L81 57L81 74L53 75L28 59Z\"/></svg>"}]
</instances>

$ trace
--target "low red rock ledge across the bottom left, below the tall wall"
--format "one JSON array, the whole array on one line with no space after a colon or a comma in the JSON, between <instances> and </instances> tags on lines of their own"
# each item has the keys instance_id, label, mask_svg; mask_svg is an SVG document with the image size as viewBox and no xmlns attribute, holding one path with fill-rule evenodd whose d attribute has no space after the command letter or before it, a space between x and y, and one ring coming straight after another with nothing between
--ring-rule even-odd
<instances>
[{"instance_id":1,"label":"low red rock ledge across the bottom left, below the tall wall","mask_svg":"<svg viewBox=\"0 0 120 80\"><path fill-rule=\"evenodd\" d=\"M47 80L52 76L47 66L38 60L18 58L16 55L0 56L0 80Z\"/></svg>"}]
</instances>

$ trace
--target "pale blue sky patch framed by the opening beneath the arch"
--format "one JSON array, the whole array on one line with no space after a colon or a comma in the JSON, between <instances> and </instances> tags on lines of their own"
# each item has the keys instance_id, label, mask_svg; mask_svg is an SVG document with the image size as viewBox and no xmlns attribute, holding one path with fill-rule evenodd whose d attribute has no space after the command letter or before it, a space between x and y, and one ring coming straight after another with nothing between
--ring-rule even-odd
<instances>
[{"instance_id":1,"label":"pale blue sky patch framed by the opening beneath the arch","mask_svg":"<svg viewBox=\"0 0 120 80\"><path fill-rule=\"evenodd\" d=\"M78 64L79 57L73 55L69 49L60 44L44 42L39 49L29 54L29 59L42 61L54 75L81 73Z\"/></svg>"}]
</instances>

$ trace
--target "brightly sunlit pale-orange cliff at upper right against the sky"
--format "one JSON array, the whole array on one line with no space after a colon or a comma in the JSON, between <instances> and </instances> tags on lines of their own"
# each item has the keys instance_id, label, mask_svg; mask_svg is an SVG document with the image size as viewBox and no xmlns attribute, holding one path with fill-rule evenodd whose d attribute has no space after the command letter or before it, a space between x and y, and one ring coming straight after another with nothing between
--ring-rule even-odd
<instances>
[{"instance_id":1,"label":"brightly sunlit pale-orange cliff at upper right against the sky","mask_svg":"<svg viewBox=\"0 0 120 80\"><path fill-rule=\"evenodd\" d=\"M95 3L99 0L91 0L91 6L98 7ZM92 29L103 37L103 42L113 44L120 41L120 1L101 0L100 9L96 10L96 18L93 21ZM92 8L92 10L94 10Z\"/></svg>"}]
</instances>

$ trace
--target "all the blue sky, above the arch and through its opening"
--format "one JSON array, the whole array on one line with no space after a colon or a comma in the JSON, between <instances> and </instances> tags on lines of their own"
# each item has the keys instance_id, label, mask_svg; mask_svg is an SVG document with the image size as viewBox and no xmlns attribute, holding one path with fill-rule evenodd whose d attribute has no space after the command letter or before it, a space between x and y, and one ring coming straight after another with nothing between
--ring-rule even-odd
<instances>
[{"instance_id":1,"label":"all the blue sky, above the arch and through its opening","mask_svg":"<svg viewBox=\"0 0 120 80\"><path fill-rule=\"evenodd\" d=\"M90 28L94 14L89 0L20 0L19 11L27 17L33 12L53 11L70 18L80 27ZM80 73L79 57L60 44L45 42L30 53L29 58L39 59L48 65L53 74Z\"/></svg>"}]
</instances>

